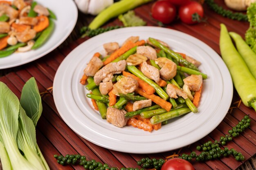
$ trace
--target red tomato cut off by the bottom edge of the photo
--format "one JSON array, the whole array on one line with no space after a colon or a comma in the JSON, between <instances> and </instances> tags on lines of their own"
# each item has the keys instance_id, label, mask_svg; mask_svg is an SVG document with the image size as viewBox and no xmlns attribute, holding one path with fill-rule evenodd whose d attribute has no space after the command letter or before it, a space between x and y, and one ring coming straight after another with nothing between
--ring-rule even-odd
<instances>
[{"instance_id":1,"label":"red tomato cut off by the bottom edge of the photo","mask_svg":"<svg viewBox=\"0 0 256 170\"><path fill-rule=\"evenodd\" d=\"M180 158L173 158L166 161L161 170L195 170L189 161Z\"/></svg>"}]
</instances>

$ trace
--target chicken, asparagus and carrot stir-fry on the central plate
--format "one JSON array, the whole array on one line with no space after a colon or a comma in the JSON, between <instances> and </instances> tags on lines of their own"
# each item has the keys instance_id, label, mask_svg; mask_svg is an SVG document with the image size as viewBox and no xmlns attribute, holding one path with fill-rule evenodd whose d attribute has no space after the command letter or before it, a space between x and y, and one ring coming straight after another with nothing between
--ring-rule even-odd
<instances>
[{"instance_id":1,"label":"chicken, asparagus and carrot stir-fry on the central plate","mask_svg":"<svg viewBox=\"0 0 256 170\"><path fill-rule=\"evenodd\" d=\"M80 80L102 119L122 128L132 125L151 132L169 119L198 112L203 79L200 61L177 53L161 40L139 36L103 44Z\"/></svg>"}]
</instances>

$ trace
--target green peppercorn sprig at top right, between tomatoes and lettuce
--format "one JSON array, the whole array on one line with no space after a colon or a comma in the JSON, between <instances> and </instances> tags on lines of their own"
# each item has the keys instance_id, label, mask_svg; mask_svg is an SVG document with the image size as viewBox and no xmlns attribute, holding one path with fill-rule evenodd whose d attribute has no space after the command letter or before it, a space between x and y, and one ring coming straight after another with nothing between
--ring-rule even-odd
<instances>
[{"instance_id":1,"label":"green peppercorn sprig at top right, between tomatoes and lettuce","mask_svg":"<svg viewBox=\"0 0 256 170\"><path fill-rule=\"evenodd\" d=\"M238 21L247 21L247 15L240 13L240 12L232 12L227 9L223 9L222 7L218 6L214 2L214 0L205 0L206 4L212 9L214 12L218 13L219 15L222 15L226 18L232 19L232 20L238 20Z\"/></svg>"}]
</instances>

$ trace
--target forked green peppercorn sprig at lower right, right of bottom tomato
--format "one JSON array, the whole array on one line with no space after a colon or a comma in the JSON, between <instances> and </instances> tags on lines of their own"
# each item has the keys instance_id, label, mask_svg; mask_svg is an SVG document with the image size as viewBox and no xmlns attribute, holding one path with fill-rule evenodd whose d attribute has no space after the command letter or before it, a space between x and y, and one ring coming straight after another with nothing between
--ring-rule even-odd
<instances>
[{"instance_id":1,"label":"forked green peppercorn sprig at lower right, right of bottom tomato","mask_svg":"<svg viewBox=\"0 0 256 170\"><path fill-rule=\"evenodd\" d=\"M238 136L246 128L249 127L250 122L251 119L249 119L249 116L244 116L244 118L235 127L233 127L232 130L228 131L229 134L226 134L225 136L220 136L220 141L216 140L214 141L214 143L208 141L203 145L198 145L196 149L202 151L199 155L197 155L193 151L190 154L182 154L180 158L185 159L187 161L191 161L192 159L195 159L196 161L208 161L211 159L217 159L233 155L236 161L243 161L245 157L243 156L242 153L237 152L233 148L231 148L230 150L227 147L221 149L220 145L223 146L226 145L227 142L232 141L234 137Z\"/></svg>"}]
</instances>

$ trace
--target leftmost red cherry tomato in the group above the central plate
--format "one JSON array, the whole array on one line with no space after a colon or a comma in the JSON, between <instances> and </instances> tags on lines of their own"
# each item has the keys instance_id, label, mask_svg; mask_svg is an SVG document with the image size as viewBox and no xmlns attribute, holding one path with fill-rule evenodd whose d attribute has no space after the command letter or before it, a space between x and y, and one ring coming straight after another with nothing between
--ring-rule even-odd
<instances>
[{"instance_id":1,"label":"leftmost red cherry tomato in the group above the central plate","mask_svg":"<svg viewBox=\"0 0 256 170\"><path fill-rule=\"evenodd\" d=\"M171 23L176 17L176 8L169 0L155 2L151 7L152 17L164 24Z\"/></svg>"}]
</instances>

